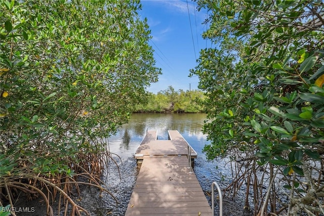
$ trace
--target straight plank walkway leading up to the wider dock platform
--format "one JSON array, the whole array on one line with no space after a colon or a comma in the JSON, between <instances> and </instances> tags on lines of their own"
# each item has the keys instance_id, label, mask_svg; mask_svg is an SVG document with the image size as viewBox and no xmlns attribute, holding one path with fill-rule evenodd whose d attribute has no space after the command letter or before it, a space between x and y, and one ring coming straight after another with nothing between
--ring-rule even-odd
<instances>
[{"instance_id":1,"label":"straight plank walkway leading up to the wider dock platform","mask_svg":"<svg viewBox=\"0 0 324 216\"><path fill-rule=\"evenodd\" d=\"M125 215L211 215L187 166L186 157L144 158Z\"/></svg>"}]
</instances>

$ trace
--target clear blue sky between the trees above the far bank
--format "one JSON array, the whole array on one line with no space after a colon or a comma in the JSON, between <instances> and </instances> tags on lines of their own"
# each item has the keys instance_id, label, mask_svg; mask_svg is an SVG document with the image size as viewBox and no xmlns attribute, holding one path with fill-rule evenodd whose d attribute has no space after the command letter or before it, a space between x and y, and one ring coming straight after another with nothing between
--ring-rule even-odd
<instances>
[{"instance_id":1,"label":"clear blue sky between the trees above the far bank","mask_svg":"<svg viewBox=\"0 0 324 216\"><path fill-rule=\"evenodd\" d=\"M188 7L187 7L188 3ZM211 43L201 37L206 25L201 24L207 17L207 11L196 10L197 4L188 0L142 0L141 19L147 18L157 67L162 68L158 83L147 90L157 93L172 86L175 90L197 89L199 79L188 78L189 69L196 66L200 49L210 47ZM190 14L192 35L190 29ZM193 45L194 44L194 45ZM195 50L195 51L194 51Z\"/></svg>"}]
</instances>

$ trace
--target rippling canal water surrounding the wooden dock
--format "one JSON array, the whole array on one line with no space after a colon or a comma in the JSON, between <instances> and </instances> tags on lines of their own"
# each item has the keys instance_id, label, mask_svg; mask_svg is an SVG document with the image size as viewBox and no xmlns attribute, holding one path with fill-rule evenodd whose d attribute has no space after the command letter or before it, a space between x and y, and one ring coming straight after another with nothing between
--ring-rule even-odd
<instances>
[{"instance_id":1,"label":"rippling canal water surrounding the wooden dock","mask_svg":"<svg viewBox=\"0 0 324 216\"><path fill-rule=\"evenodd\" d=\"M194 172L211 204L212 183L217 181L221 187L228 185L232 175L226 160L208 161L202 151L210 143L201 132L205 120L206 114L133 114L128 124L108 138L112 160L103 176L103 182L104 187L119 203L109 194L99 193L96 188L83 187L77 204L87 209L91 215L125 214L137 177L133 155L146 130L157 130L158 139L168 139L168 130L178 130L181 133L198 153L194 161ZM235 212L232 215L236 215Z\"/></svg>"}]
</instances>

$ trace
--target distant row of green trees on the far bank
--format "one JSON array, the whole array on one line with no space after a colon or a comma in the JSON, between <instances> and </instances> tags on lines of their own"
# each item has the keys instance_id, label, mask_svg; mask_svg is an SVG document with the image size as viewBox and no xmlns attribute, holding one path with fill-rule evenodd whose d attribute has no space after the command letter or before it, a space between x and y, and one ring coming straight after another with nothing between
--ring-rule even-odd
<instances>
[{"instance_id":1,"label":"distant row of green trees on the far bank","mask_svg":"<svg viewBox=\"0 0 324 216\"><path fill-rule=\"evenodd\" d=\"M200 90L182 89L175 91L172 86L167 90L159 91L157 94L151 93L145 104L135 106L135 113L200 113L205 112L201 105L204 100L204 92Z\"/></svg>"}]
</instances>

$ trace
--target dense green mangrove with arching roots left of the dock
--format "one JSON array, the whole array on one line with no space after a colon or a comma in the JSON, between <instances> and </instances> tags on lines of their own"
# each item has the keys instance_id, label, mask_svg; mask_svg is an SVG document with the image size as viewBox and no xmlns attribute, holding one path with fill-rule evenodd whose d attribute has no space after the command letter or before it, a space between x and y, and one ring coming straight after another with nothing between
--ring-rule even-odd
<instances>
[{"instance_id":1,"label":"dense green mangrove with arching roots left of the dock","mask_svg":"<svg viewBox=\"0 0 324 216\"><path fill-rule=\"evenodd\" d=\"M1 1L1 205L13 206L17 191L49 203L46 186L79 214L68 197L76 177L100 185L105 137L160 74L140 8L137 0Z\"/></svg>"}]
</instances>

